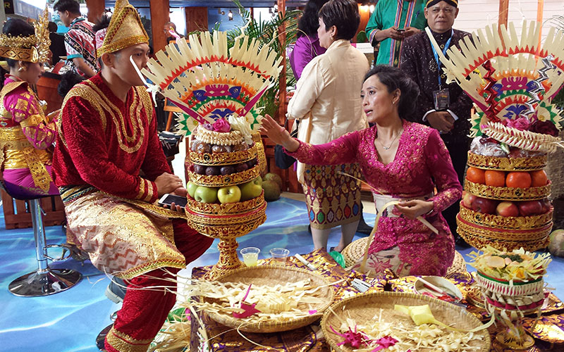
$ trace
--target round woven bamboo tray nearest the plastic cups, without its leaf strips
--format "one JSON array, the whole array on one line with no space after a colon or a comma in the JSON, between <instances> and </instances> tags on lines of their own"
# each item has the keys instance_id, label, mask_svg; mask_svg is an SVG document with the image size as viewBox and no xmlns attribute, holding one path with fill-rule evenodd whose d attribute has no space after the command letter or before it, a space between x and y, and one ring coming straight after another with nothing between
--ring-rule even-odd
<instances>
[{"instance_id":1,"label":"round woven bamboo tray nearest the plastic cups, without its leaf strips","mask_svg":"<svg viewBox=\"0 0 564 352\"><path fill-rule=\"evenodd\" d=\"M219 322L227 327L239 328L244 332L283 332L299 327L305 327L312 322L319 320L321 315L331 303L335 293L330 286L330 282L319 274L300 268L289 268L281 265L258 265L248 268L242 268L221 275L216 278L219 282L242 282L243 284L253 284L261 286L274 286L285 282L298 282L304 279L311 279L313 286L321 286L321 289L315 291L312 295L323 298L323 303L318 306L307 308L308 310L317 310L314 315L307 317L295 318L290 320L271 320L269 322L253 322L253 317L238 319L228 314L216 312L206 312L209 318ZM210 298L204 298L210 299Z\"/></svg>"}]
</instances>

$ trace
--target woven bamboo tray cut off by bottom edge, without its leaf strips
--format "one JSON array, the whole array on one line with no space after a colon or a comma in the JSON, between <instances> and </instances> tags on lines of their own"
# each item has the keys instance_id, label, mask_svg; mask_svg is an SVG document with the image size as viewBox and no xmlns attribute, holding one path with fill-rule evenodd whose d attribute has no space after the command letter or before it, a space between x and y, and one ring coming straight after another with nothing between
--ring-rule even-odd
<instances>
[{"instance_id":1,"label":"woven bamboo tray cut off by bottom edge, without its leaf strips","mask_svg":"<svg viewBox=\"0 0 564 352\"><path fill-rule=\"evenodd\" d=\"M375 316L380 315L380 309L382 309L381 317L386 322L402 322L405 325L411 323L415 327L415 323L409 317L393 309L396 304L405 306L428 304L437 320L459 329L473 329L482 325L482 322L468 313L467 310L436 298L419 294L379 292L345 298L343 301L333 304L331 309L326 310L321 320L321 329L323 329L326 341L334 351L353 352L354 350L350 346L338 346L343 338L332 332L330 327L337 329L341 326L341 320L346 320L346 318L352 318L357 322L373 320ZM483 329L474 332L474 334L479 335L482 339L472 341L472 351L489 352L491 340L488 331ZM430 351L430 349L422 348L417 351Z\"/></svg>"}]
</instances>

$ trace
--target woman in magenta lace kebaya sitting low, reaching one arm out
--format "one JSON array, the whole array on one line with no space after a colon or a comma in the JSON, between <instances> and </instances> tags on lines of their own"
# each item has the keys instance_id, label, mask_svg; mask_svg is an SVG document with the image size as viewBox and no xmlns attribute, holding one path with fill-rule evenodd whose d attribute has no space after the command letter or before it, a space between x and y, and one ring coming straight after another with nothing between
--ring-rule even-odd
<instances>
[{"instance_id":1,"label":"woman in magenta lace kebaya sitting low, reaching one arm out","mask_svg":"<svg viewBox=\"0 0 564 352\"><path fill-rule=\"evenodd\" d=\"M439 132L407 121L417 94L417 85L398 68L378 65L361 92L372 127L314 146L291 138L269 116L262 122L263 132L303 163L359 163L377 190L374 204L381 213L367 261L376 274L388 269L400 276L444 275L454 258L453 235L441 211L460 199L462 187ZM384 208L389 201L400 203Z\"/></svg>"}]
</instances>

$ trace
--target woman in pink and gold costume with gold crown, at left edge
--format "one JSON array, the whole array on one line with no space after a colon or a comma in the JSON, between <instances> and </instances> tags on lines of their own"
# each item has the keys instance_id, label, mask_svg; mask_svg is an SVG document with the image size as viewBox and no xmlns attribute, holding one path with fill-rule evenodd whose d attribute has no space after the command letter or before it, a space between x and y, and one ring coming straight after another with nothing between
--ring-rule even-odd
<instances>
[{"instance_id":1,"label":"woman in pink and gold costume with gold crown, at left edge","mask_svg":"<svg viewBox=\"0 0 564 352\"><path fill-rule=\"evenodd\" d=\"M56 126L30 87L44 71L41 51L32 44L37 37L34 27L20 19L8 20L0 35L0 56L10 67L0 91L0 167L6 189L16 198L59 194L51 178Z\"/></svg>"}]
</instances>

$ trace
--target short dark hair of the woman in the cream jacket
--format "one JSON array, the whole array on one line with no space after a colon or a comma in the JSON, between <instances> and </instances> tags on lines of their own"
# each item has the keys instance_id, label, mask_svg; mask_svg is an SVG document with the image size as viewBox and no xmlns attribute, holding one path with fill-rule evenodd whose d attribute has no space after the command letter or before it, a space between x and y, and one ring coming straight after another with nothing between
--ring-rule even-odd
<instances>
[{"instance_id":1,"label":"short dark hair of the woman in the cream jacket","mask_svg":"<svg viewBox=\"0 0 564 352\"><path fill-rule=\"evenodd\" d=\"M353 39L360 25L358 5L353 0L330 0L321 6L319 18L323 19L326 30L333 25L337 27L335 39Z\"/></svg>"}]
</instances>

